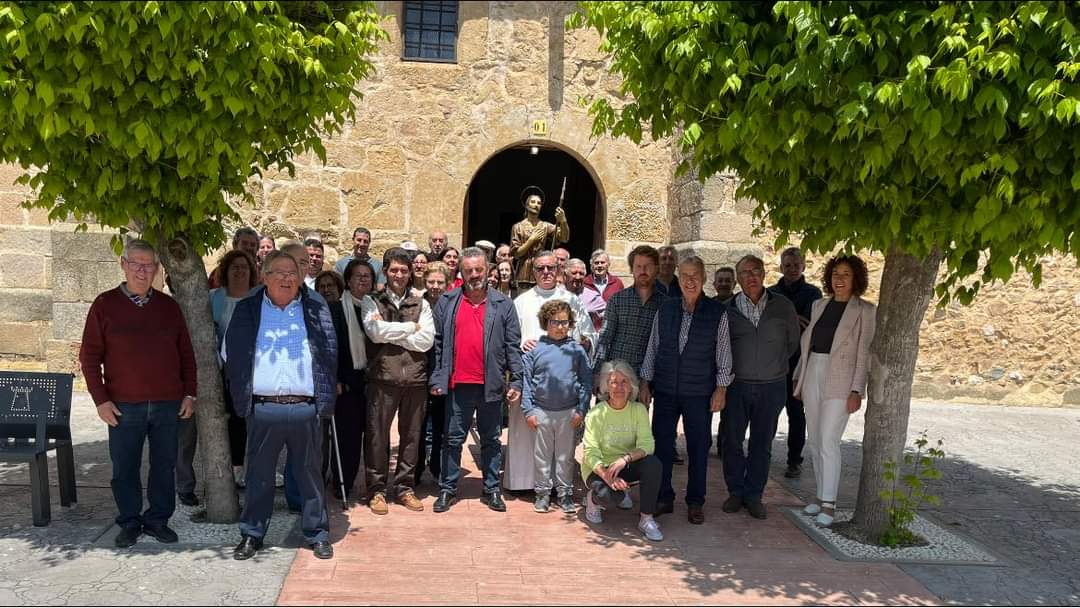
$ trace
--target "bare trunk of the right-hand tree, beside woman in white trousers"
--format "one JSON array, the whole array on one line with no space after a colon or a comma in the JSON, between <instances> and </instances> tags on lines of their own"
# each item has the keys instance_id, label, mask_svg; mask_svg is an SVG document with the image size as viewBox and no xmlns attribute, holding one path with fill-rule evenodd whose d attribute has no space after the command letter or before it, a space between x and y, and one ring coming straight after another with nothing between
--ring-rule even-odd
<instances>
[{"instance_id":1,"label":"bare trunk of the right-hand tree, beside woman in white trousers","mask_svg":"<svg viewBox=\"0 0 1080 608\"><path fill-rule=\"evenodd\" d=\"M919 355L919 326L933 295L941 251L919 259L900 249L885 256L877 330L870 343L863 468L854 525L868 538L880 538L889 525L880 492L888 461L900 462L907 443L912 380Z\"/></svg>"}]
</instances>

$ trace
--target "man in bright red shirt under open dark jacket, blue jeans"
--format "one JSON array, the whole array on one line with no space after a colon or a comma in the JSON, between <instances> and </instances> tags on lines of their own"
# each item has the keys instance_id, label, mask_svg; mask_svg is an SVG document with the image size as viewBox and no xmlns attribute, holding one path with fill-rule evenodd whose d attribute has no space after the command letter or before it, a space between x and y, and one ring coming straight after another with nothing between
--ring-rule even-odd
<instances>
[{"instance_id":1,"label":"man in bright red shirt under open dark jacket, blue jeans","mask_svg":"<svg viewBox=\"0 0 1080 608\"><path fill-rule=\"evenodd\" d=\"M499 489L502 464L502 400L522 391L522 330L514 302L487 286L487 254L480 247L461 252L460 289L443 294L435 305L435 352L431 394L447 395L447 432L435 513L450 509L461 478L461 446L476 417L481 441L484 496L492 511L505 511ZM486 347L486 348L485 348ZM510 373L509 386L507 371Z\"/></svg>"}]
</instances>

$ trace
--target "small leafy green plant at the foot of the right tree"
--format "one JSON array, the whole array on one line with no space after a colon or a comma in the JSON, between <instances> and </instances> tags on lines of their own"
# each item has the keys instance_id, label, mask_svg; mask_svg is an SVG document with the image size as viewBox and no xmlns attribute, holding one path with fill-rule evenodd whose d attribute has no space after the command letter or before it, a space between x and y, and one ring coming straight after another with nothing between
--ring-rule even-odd
<instances>
[{"instance_id":1,"label":"small leafy green plant at the foot of the right tree","mask_svg":"<svg viewBox=\"0 0 1080 608\"><path fill-rule=\"evenodd\" d=\"M927 432L922 431L915 440L915 454L905 454L900 465L891 460L885 463L882 476L890 482L890 488L880 494L889 503L889 528L879 539L885 546L909 546L923 542L909 526L923 503L941 504L940 497L927 494L926 482L942 477L937 469L937 461L945 458L942 444L942 440L937 440L937 445L930 447Z\"/></svg>"}]
</instances>

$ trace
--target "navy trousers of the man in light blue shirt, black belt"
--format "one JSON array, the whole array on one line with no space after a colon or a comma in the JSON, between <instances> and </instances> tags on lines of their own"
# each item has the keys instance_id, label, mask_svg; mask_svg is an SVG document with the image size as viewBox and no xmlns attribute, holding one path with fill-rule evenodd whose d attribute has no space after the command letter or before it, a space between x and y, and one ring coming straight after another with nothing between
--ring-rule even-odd
<instances>
[{"instance_id":1,"label":"navy trousers of the man in light blue shirt, black belt","mask_svg":"<svg viewBox=\"0 0 1080 608\"><path fill-rule=\"evenodd\" d=\"M282 448L288 449L286 473L299 492L300 528L308 542L329 540L323 496L323 427L311 404L255 405L247 417L247 491L240 532L262 538L273 513L274 473Z\"/></svg>"}]
</instances>

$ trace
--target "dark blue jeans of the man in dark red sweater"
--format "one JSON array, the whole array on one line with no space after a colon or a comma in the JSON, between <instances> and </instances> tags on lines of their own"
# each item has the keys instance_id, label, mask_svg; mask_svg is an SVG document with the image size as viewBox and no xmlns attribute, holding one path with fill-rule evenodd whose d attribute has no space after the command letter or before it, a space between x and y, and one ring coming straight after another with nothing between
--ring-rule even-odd
<instances>
[{"instance_id":1,"label":"dark blue jeans of the man in dark red sweater","mask_svg":"<svg viewBox=\"0 0 1080 608\"><path fill-rule=\"evenodd\" d=\"M109 427L112 498L122 528L168 524L176 510L176 449L180 402L118 403L119 424ZM150 440L149 508L143 511L143 444Z\"/></svg>"}]
</instances>

